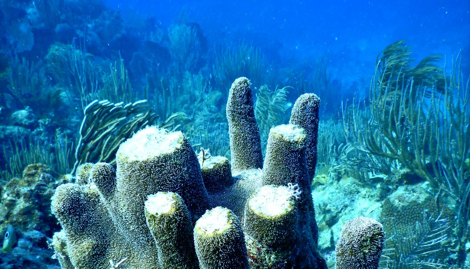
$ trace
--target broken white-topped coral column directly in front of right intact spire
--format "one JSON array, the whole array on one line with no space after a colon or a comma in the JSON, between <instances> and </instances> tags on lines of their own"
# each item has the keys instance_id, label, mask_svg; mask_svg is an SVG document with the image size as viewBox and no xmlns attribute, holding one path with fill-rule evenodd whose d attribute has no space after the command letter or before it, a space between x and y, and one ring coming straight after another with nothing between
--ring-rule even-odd
<instances>
[{"instance_id":1,"label":"broken white-topped coral column directly in front of right intact spire","mask_svg":"<svg viewBox=\"0 0 470 269\"><path fill-rule=\"evenodd\" d=\"M289 188L298 199L298 222L292 228L296 231L296 244L289 258L292 268L321 268L324 261L317 252L318 227L306 162L306 139L305 130L298 125L271 128L261 179L263 184Z\"/></svg>"}]
</instances>

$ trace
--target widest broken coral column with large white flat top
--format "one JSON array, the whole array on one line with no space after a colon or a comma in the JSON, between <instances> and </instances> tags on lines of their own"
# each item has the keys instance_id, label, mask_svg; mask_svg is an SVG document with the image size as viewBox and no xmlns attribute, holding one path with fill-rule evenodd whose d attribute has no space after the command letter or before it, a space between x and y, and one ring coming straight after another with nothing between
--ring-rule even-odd
<instances>
[{"instance_id":1,"label":"widest broken coral column with large white flat top","mask_svg":"<svg viewBox=\"0 0 470 269\"><path fill-rule=\"evenodd\" d=\"M118 202L126 230L132 231L136 241L142 234L149 234L144 202L151 194L158 191L178 193L193 221L209 208L201 167L181 132L146 127L119 146L116 164L114 199Z\"/></svg>"}]
</instances>

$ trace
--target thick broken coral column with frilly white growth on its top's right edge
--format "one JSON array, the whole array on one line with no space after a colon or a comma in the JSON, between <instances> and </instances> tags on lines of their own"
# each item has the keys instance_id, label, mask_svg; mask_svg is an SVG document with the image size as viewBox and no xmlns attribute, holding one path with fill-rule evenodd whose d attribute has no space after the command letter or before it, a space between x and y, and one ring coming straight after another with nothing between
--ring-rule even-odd
<instances>
[{"instance_id":1,"label":"thick broken coral column with frilly white growth on its top's right edge","mask_svg":"<svg viewBox=\"0 0 470 269\"><path fill-rule=\"evenodd\" d=\"M243 230L252 269L292 268L295 263L295 194L285 186L266 185L248 200Z\"/></svg>"}]
</instances>

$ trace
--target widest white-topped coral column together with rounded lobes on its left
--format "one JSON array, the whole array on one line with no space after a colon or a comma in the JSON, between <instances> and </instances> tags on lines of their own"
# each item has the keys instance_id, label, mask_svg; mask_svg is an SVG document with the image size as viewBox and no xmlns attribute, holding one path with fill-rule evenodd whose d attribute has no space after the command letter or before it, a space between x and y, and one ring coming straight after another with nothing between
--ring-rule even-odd
<instances>
[{"instance_id":1,"label":"widest white-topped coral column together with rounded lobes on its left","mask_svg":"<svg viewBox=\"0 0 470 269\"><path fill-rule=\"evenodd\" d=\"M92 167L97 190L68 184L55 192L52 210L65 230L70 260L83 268L122 259L122 267L159 268L144 202L158 191L177 192L196 220L209 208L199 162L181 132L147 127L120 145L116 163L116 172L105 163Z\"/></svg>"}]
</instances>

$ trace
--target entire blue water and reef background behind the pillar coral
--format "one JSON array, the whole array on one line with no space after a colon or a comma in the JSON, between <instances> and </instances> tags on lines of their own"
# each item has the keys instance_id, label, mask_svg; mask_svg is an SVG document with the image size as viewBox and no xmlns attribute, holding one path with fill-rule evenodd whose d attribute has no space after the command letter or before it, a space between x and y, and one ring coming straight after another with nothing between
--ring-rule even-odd
<instances>
[{"instance_id":1,"label":"entire blue water and reef background behind the pillar coral","mask_svg":"<svg viewBox=\"0 0 470 269\"><path fill-rule=\"evenodd\" d=\"M0 0L0 231L15 234L0 268L61 268L55 188L116 166L146 126L230 159L239 77L263 155L299 95L321 99L311 188L328 268L359 216L384 227L379 268L470 268L469 75L468 0Z\"/></svg>"}]
</instances>

